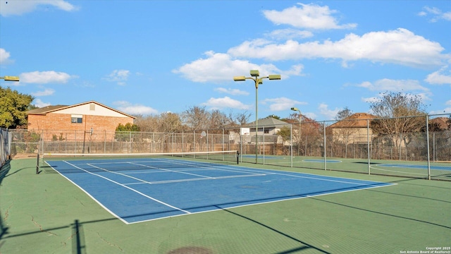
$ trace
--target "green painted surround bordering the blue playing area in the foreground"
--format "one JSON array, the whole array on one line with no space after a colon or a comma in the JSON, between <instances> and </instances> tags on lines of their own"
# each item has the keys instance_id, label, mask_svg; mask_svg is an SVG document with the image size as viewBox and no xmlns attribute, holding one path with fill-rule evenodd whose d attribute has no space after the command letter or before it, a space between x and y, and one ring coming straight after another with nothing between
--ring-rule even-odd
<instances>
[{"instance_id":1,"label":"green painted surround bordering the blue playing area in the foreground","mask_svg":"<svg viewBox=\"0 0 451 254\"><path fill-rule=\"evenodd\" d=\"M167 211L160 211L152 214L166 219L123 224L99 210L96 203L88 201L85 193L65 179L61 181L62 178L51 174L37 176L29 171L34 163L35 160L28 164L16 160L11 163L9 175L2 176L6 181L0 193L1 253L17 253L14 250L22 248L22 253L111 253L108 250L116 249L116 253L148 250L172 254L176 253L173 250L186 246L208 246L211 253L265 253L261 250L268 246L273 248L266 253L273 254L399 253L409 246L424 248L431 242L448 243L446 236L451 229L451 220L446 216L451 203L447 198L451 190L449 183L383 176L365 178L398 184L351 192L347 191L348 186L337 186L342 193L335 195L320 195L321 191L311 189L298 195L279 193L282 195L275 194L279 198L295 200L268 202L264 204L265 212L260 212L262 205L236 207L240 202L218 201L215 213L168 218ZM319 196L312 197L316 194ZM247 199L271 201L262 196ZM21 205L30 200L39 202ZM28 214L47 209L52 209L57 217L45 214L39 219L35 217L41 227L33 224L33 220L30 222ZM287 211L287 216L302 219L290 218L285 222L282 220L285 215L280 214L282 209ZM149 210L136 210L129 217L149 213ZM378 241L374 241L374 230L381 230ZM402 234L398 234L400 231ZM333 234L336 232L340 234ZM362 250L365 245L368 247Z\"/></svg>"}]
</instances>

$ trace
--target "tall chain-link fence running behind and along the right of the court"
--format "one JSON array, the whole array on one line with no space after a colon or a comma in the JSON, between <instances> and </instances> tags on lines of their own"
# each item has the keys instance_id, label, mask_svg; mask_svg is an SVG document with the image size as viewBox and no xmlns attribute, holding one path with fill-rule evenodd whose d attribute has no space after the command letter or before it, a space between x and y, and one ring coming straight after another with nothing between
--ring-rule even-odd
<instances>
[{"instance_id":1,"label":"tall chain-link fence running behind and along the right of the court","mask_svg":"<svg viewBox=\"0 0 451 254\"><path fill-rule=\"evenodd\" d=\"M11 154L161 153L237 150L240 162L451 181L451 131L429 131L429 116L313 121L242 128L146 133L9 131ZM387 120L387 121L385 121ZM378 125L400 125L388 131ZM403 131L415 123L416 132ZM3 140L3 138L2 138ZM3 150L3 149L2 149Z\"/></svg>"}]
</instances>

